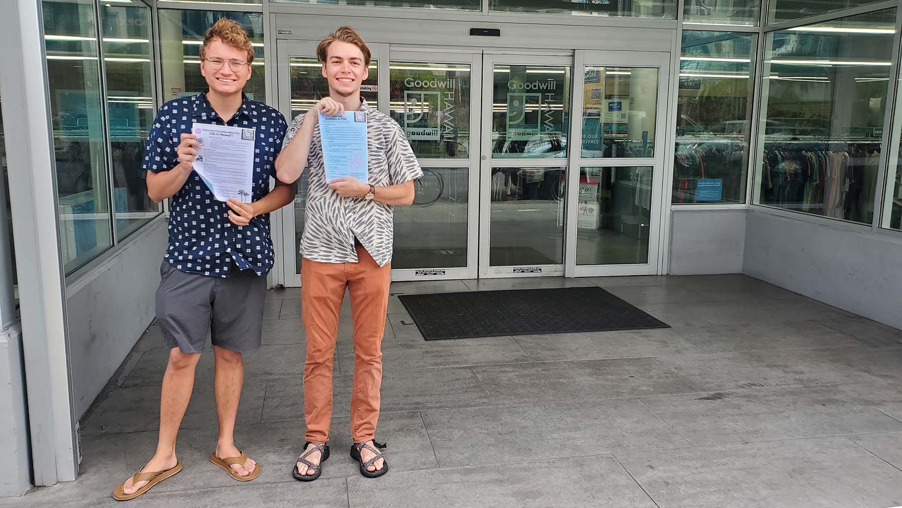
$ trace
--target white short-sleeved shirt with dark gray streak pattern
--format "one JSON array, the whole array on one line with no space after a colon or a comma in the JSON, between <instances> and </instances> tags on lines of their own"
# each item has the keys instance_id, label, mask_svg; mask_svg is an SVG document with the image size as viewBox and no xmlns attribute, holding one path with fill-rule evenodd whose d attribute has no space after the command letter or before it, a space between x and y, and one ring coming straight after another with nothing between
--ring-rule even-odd
<instances>
[{"instance_id":1,"label":"white short-sleeved shirt with dark gray streak pattern","mask_svg":"<svg viewBox=\"0 0 902 508\"><path fill-rule=\"evenodd\" d=\"M417 156L400 125L365 101L360 110L366 114L368 144L369 181L364 183L388 187L423 176ZM291 122L283 147L298 134L303 121L304 114L300 114ZM354 249L356 237L380 266L391 263L391 243L394 239L391 205L374 199L342 198L335 190L328 188L319 125L313 130L305 171L308 192L300 254L319 263L357 263L357 251Z\"/></svg>"}]
</instances>

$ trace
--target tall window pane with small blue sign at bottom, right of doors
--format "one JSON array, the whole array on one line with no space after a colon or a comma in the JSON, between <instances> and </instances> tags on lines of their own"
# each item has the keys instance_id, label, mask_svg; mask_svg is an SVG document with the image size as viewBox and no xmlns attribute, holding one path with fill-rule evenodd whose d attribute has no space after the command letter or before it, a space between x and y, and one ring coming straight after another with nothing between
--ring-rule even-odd
<instances>
[{"instance_id":1,"label":"tall window pane with small blue sign at bottom, right of doors","mask_svg":"<svg viewBox=\"0 0 902 508\"><path fill-rule=\"evenodd\" d=\"M757 35L683 32L673 203L744 203Z\"/></svg>"}]
</instances>

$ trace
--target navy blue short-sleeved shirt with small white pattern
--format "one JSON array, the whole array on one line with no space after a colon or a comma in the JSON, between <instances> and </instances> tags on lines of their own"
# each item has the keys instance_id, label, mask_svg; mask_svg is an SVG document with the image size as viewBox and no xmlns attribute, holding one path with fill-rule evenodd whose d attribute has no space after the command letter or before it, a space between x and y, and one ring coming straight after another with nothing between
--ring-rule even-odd
<instances>
[{"instance_id":1,"label":"navy blue short-sleeved shirt with small white pattern","mask_svg":"<svg viewBox=\"0 0 902 508\"><path fill-rule=\"evenodd\" d=\"M255 129L252 200L269 194L270 177L276 177L275 160L287 125L276 109L247 97L225 123L205 94L164 104L144 146L143 169L156 173L176 167L181 134L189 134L194 122ZM214 198L197 171L191 171L185 185L172 197L166 261L181 272L214 277L226 277L233 261L240 270L251 269L258 275L269 272L274 262L269 214L253 217L247 226L235 226L228 219L230 209Z\"/></svg>"}]
</instances>

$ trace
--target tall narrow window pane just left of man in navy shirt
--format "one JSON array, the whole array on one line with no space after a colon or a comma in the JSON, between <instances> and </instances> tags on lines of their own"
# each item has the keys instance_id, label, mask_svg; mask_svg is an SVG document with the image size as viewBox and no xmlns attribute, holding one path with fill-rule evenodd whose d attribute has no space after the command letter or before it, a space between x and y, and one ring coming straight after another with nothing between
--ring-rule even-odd
<instances>
[{"instance_id":1,"label":"tall narrow window pane just left of man in navy shirt","mask_svg":"<svg viewBox=\"0 0 902 508\"><path fill-rule=\"evenodd\" d=\"M101 9L116 241L121 241L160 214L160 205L147 196L141 169L154 114L150 8Z\"/></svg>"}]
</instances>

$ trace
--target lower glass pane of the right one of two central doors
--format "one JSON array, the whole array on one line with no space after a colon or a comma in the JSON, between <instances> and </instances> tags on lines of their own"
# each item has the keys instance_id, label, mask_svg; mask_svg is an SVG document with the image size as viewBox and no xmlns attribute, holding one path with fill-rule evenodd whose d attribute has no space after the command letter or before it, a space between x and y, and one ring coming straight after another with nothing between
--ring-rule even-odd
<instances>
[{"instance_id":1,"label":"lower glass pane of the right one of two central doors","mask_svg":"<svg viewBox=\"0 0 902 508\"><path fill-rule=\"evenodd\" d=\"M564 261L565 168L492 168L489 264Z\"/></svg>"}]
</instances>

